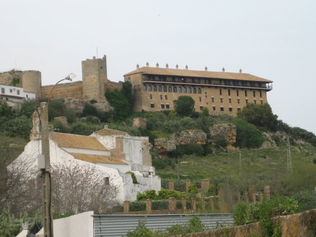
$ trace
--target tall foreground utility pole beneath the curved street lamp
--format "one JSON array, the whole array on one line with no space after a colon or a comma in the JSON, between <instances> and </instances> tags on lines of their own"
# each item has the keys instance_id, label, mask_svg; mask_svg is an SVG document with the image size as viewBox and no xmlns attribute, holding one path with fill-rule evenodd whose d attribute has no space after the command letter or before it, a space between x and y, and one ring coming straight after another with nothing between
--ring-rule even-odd
<instances>
[{"instance_id":1,"label":"tall foreground utility pole beneath the curved street lamp","mask_svg":"<svg viewBox=\"0 0 316 237\"><path fill-rule=\"evenodd\" d=\"M53 237L53 215L51 194L51 161L49 156L49 128L48 128L48 105L46 102L40 104L41 108L41 143L42 155L45 157L45 169L41 169L43 178L43 226L44 237Z\"/></svg>"}]
</instances>

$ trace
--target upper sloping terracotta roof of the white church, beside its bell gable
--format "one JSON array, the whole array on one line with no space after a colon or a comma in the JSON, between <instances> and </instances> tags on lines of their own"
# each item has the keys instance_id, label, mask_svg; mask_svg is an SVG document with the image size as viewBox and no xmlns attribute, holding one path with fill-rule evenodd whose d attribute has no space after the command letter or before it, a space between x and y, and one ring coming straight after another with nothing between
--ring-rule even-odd
<instances>
[{"instance_id":1,"label":"upper sloping terracotta roof of the white church, beside its bell gable","mask_svg":"<svg viewBox=\"0 0 316 237\"><path fill-rule=\"evenodd\" d=\"M72 147L103 151L109 150L105 146L103 146L95 137L59 132L52 132L51 137L60 147Z\"/></svg>"}]
</instances>

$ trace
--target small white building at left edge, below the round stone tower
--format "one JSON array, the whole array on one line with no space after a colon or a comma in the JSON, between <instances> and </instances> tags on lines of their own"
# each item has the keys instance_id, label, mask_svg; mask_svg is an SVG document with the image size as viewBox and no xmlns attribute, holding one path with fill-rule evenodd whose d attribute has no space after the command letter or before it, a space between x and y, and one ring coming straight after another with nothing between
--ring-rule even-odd
<instances>
[{"instance_id":1,"label":"small white building at left edge, below the round stone tower","mask_svg":"<svg viewBox=\"0 0 316 237\"><path fill-rule=\"evenodd\" d=\"M35 99L35 93L24 91L22 87L0 84L0 98L3 100L22 101L23 99Z\"/></svg>"}]
</instances>

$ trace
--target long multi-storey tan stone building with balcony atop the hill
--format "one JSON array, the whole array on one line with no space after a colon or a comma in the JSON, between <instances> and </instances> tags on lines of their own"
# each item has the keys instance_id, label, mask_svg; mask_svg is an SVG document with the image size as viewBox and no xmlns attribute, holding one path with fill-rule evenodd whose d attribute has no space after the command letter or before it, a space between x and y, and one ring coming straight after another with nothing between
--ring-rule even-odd
<instances>
[{"instance_id":1,"label":"long multi-storey tan stone building with balcony atop the hill","mask_svg":"<svg viewBox=\"0 0 316 237\"><path fill-rule=\"evenodd\" d=\"M139 67L124 75L133 87L134 110L161 111L173 109L173 100L189 95L195 100L195 111L207 107L211 114L236 116L247 103L267 103L272 81L251 74Z\"/></svg>"}]
</instances>

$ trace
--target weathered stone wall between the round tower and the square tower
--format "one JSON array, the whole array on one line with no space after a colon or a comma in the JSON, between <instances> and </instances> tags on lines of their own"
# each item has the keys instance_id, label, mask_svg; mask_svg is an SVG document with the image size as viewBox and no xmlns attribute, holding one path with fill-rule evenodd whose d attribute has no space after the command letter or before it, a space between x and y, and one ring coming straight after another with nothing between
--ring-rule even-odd
<instances>
[{"instance_id":1,"label":"weathered stone wall between the round tower and the square tower","mask_svg":"<svg viewBox=\"0 0 316 237\"><path fill-rule=\"evenodd\" d=\"M41 87L41 99L49 97L49 94L54 85ZM82 82L68 82L57 84L52 91L51 99L82 99Z\"/></svg>"}]
</instances>

